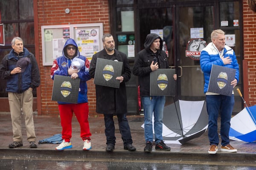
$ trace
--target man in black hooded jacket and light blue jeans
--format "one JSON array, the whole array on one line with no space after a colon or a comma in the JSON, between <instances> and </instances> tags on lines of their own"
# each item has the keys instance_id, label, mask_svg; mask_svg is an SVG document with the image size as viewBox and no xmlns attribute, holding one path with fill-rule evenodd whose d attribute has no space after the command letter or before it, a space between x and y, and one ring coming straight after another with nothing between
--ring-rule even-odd
<instances>
[{"instance_id":1,"label":"man in black hooded jacket and light blue jeans","mask_svg":"<svg viewBox=\"0 0 256 170\"><path fill-rule=\"evenodd\" d=\"M157 34L148 34L144 43L145 49L140 51L134 62L133 74L139 77L141 102L144 110L144 132L146 146L144 152L151 152L153 142L152 115L154 113L155 149L171 150L163 142L163 107L165 96L150 96L150 73L160 68L169 68L166 53L162 50L163 40ZM176 80L177 75L173 78Z\"/></svg>"}]
</instances>

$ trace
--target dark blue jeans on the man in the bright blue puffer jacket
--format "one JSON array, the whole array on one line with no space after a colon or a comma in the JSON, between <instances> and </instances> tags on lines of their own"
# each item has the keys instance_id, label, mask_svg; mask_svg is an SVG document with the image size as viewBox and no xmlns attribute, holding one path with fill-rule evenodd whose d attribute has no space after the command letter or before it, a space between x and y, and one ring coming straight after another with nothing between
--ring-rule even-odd
<instances>
[{"instance_id":1,"label":"dark blue jeans on the man in the bright blue puffer jacket","mask_svg":"<svg viewBox=\"0 0 256 170\"><path fill-rule=\"evenodd\" d=\"M230 119L234 103L234 95L206 95L207 112L209 115L208 138L210 145L219 144L217 125L219 113L221 116L221 145L226 146L230 143Z\"/></svg>"}]
</instances>

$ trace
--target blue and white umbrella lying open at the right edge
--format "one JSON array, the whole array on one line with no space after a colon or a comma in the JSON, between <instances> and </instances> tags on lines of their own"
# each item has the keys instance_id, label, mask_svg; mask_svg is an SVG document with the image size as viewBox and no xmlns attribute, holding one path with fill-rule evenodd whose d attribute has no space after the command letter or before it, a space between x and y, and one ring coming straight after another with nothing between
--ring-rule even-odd
<instances>
[{"instance_id":1,"label":"blue and white umbrella lying open at the right edge","mask_svg":"<svg viewBox=\"0 0 256 170\"><path fill-rule=\"evenodd\" d=\"M244 98L239 90L236 89L241 98ZM230 139L244 142L256 141L256 106L248 107L244 101L246 108L236 114L230 120Z\"/></svg>"}]
</instances>

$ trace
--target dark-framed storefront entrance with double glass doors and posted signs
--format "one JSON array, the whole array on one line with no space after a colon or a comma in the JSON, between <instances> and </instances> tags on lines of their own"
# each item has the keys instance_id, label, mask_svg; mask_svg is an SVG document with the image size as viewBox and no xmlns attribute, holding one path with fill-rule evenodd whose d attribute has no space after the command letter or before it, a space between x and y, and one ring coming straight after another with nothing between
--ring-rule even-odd
<instances>
[{"instance_id":1,"label":"dark-framed storefront entrance with double glass doors and posted signs","mask_svg":"<svg viewBox=\"0 0 256 170\"><path fill-rule=\"evenodd\" d=\"M222 29L226 35L235 35L236 41L231 46L236 52L241 68L242 47L242 2L238 0L113 0L113 31L118 50L128 42L135 46L136 54L144 48L147 34L159 33L165 42L164 51L168 54L169 67L175 68L178 75L176 96L166 96L166 104L174 100L204 100L204 75L200 67L200 51L211 42L210 34L214 29ZM115 4L116 2L116 4ZM122 3L121 3L122 2ZM122 11L125 11L122 13ZM134 11L134 30L123 32L123 24L129 26L122 14ZM128 20L130 21L130 20ZM238 22L240 21L240 22ZM221 23L226 23L222 25ZM228 24L227 24L228 23ZM240 23L240 25L239 25ZM127 28L127 27L125 27ZM127 31L127 30L126 30ZM125 35L125 36L124 36ZM123 39L124 37L124 39ZM130 41L132 37L132 40ZM125 41L126 38L126 41ZM124 46L125 45L125 46ZM134 57L128 57L131 69ZM242 69L236 88L242 89ZM127 83L128 108L136 110L137 77L132 76ZM235 91L235 107L233 112L241 111L243 102ZM139 104L138 104L139 105ZM140 107L138 107L140 109Z\"/></svg>"}]
</instances>

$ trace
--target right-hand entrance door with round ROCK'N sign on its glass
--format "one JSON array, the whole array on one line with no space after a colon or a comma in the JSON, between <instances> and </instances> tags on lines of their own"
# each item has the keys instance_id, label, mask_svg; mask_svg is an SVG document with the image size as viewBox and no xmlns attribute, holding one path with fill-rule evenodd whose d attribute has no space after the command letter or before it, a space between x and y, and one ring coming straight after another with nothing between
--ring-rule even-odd
<instances>
[{"instance_id":1,"label":"right-hand entrance door with round ROCK'N sign on its glass","mask_svg":"<svg viewBox=\"0 0 256 170\"><path fill-rule=\"evenodd\" d=\"M211 42L214 28L213 6L177 8L178 99L204 100L204 74L200 51Z\"/></svg>"}]
</instances>

